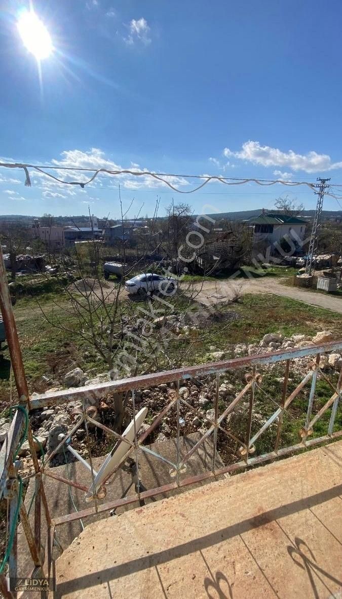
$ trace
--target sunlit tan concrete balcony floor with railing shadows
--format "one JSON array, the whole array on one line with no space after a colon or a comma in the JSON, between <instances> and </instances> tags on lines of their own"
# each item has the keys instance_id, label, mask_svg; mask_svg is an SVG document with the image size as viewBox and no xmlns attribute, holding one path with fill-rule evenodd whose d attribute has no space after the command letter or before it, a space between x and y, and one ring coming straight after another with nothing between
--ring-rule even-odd
<instances>
[{"instance_id":1,"label":"sunlit tan concrete balcony floor with railing shadows","mask_svg":"<svg viewBox=\"0 0 342 599\"><path fill-rule=\"evenodd\" d=\"M57 597L342 598L342 441L94 522Z\"/></svg>"}]
</instances>

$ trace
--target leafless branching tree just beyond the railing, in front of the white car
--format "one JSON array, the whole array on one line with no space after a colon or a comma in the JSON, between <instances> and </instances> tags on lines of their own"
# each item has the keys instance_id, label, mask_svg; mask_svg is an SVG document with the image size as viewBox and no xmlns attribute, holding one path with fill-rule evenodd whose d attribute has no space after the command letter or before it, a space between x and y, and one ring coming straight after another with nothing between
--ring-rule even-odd
<instances>
[{"instance_id":1,"label":"leafless branching tree just beyond the railing, in front of the white car","mask_svg":"<svg viewBox=\"0 0 342 599\"><path fill-rule=\"evenodd\" d=\"M51 326L78 338L81 346L100 356L113 379L180 367L212 337L206 323L216 308L202 308L194 302L201 284L194 285L193 278L183 282L182 276L178 277L179 284L170 294L157 291L130 298L124 291L125 279L135 274L170 274L170 261L151 264L151 255L160 254L163 243L155 241L155 231L160 227L157 207L158 202L149 219L149 231L135 245L130 236L117 242L115 252L120 258L117 255L115 259L120 259L124 267L123 277L115 282L104 280L102 273L103 252L112 252L113 248L94 236L89 243L77 244L70 256L64 250L51 255L51 265L59 267L54 276L60 282L63 299L55 302L53 311L41 307L42 313ZM124 217L121 208L121 222ZM188 219L183 211L180 217ZM181 235L181 226L176 232ZM166 244L173 246L173 242L170 233ZM228 319L222 328L229 325ZM117 429L123 423L127 401L128 396L114 398Z\"/></svg>"}]
</instances>

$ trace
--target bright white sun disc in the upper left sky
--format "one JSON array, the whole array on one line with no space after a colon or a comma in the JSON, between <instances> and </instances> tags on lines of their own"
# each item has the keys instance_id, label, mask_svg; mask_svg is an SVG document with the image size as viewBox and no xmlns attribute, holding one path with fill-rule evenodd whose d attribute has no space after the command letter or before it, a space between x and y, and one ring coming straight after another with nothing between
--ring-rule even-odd
<instances>
[{"instance_id":1,"label":"bright white sun disc in the upper left sky","mask_svg":"<svg viewBox=\"0 0 342 599\"><path fill-rule=\"evenodd\" d=\"M23 44L37 60L43 60L50 56L53 50L50 34L44 23L32 10L25 11L20 15L17 28Z\"/></svg>"}]
</instances>

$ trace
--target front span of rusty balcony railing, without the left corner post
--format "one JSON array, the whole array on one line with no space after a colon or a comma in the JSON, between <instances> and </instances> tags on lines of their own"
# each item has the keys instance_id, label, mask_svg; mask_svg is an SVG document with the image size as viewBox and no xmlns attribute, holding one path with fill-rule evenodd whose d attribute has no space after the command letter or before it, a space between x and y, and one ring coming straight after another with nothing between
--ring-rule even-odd
<instances>
[{"instance_id":1,"label":"front span of rusty balcony railing, without the left corner post","mask_svg":"<svg viewBox=\"0 0 342 599\"><path fill-rule=\"evenodd\" d=\"M295 349L287 352L273 352L266 353L256 356L248 356L243 358L234 358L227 361L215 362L211 364L202 364L198 366L184 367L178 370L165 371L161 373L154 373L150 375L143 375L138 377L131 377L128 379L121 379L116 381L108 381L106 383L102 383L100 385L94 386L85 386L77 389L67 389L65 391L57 391L52 394L46 393L36 396L33 400L30 401L31 409L42 408L45 406L57 406L60 404L68 403L69 401L80 400L89 400L90 397L100 390L102 394L105 392L123 392L129 391L132 394L132 406L133 406L133 419L135 419L135 391L137 389L141 389L144 386L148 386L149 388L153 388L154 386L160 385L161 383L170 383L175 382L176 388L170 389L169 395L167 398L166 407L158 414L155 418L154 422L141 434L136 434L134 441L128 441L127 439L121 437L120 434L109 429L105 425L94 419L94 409L93 407L89 407L88 409L83 410L83 413L80 414L80 417L75 423L72 431L68 433L68 438L72 437L75 434L78 428L83 425L84 422L91 424L93 426L97 426L103 431L108 432L114 437L114 440L121 440L127 444L127 452L124 458L121 460L120 464L117 465L115 470L112 471L111 475L115 474L121 465L126 461L127 456L130 454L134 454L137 449L142 452L149 453L153 455L154 458L160 459L163 462L166 462L170 467L170 478L174 479L170 481L169 484L163 485L161 487L155 489L148 489L148 491L139 492L132 497L129 498L121 498L120 500L115 500L109 503L104 503L97 505L95 507L91 507L88 509L81 510L77 513L72 513L66 516L61 516L54 520L55 525L63 524L64 522L70 522L79 518L86 518L87 516L94 515L96 512L103 512L106 510L112 510L117 507L126 505L127 503L132 503L134 501L146 499L148 497L152 497L154 495L158 495L160 493L164 493L167 491L171 491L177 487L183 487L195 482L200 482L205 479L209 479L211 477L217 477L225 473L230 473L233 471L241 470L246 467L251 467L253 465L261 464L265 461L270 461L271 459L278 458L280 456L288 455L289 453L293 453L295 451L305 449L306 447L311 447L316 444L324 443L325 441L329 441L335 438L338 438L342 435L342 430L334 431L334 422L337 414L337 406L338 400L342 398L342 370L340 376L338 378L337 385L333 385L326 374L322 371L319 365L320 356L322 356L325 352L335 352L337 350L342 349L342 341L332 342L320 344L318 346L310 346L302 349ZM301 382L295 387L294 391L291 394L288 394L288 378L289 378L289 368L292 360L297 358L305 358L307 356L314 356L314 360L309 364L309 371L303 377ZM261 388L262 385L262 376L258 372L257 367L261 365L267 364L276 364L277 362L285 362L285 377L283 381L283 389L282 389L282 399L280 401L279 406L276 406L277 409L268 416L267 420L263 423L257 431L254 432L253 436L251 436L252 430L252 420L253 420L253 410L254 410L254 398L255 391L257 388ZM227 371L234 371L245 369L246 367L251 368L251 371L245 375L245 386L243 389L236 394L236 397L231 400L227 407L219 413L219 380L220 376ZM181 383L191 382L191 380L196 379L197 377L203 377L204 375L214 375L215 376L215 399L213 401L213 410L214 410L214 418L210 419L207 416L203 417L203 412L200 411L198 407L194 407L189 401L187 401L187 394L180 393ZM316 389L317 377L322 377L325 382L331 386L332 395L326 401L324 406L319 410L319 412L312 416L312 407L313 407L313 398L314 392ZM298 397L300 392L304 389L304 387L311 381L310 386L310 395L307 404L307 412L306 412L306 420L303 426L300 429L300 443L292 444L291 446L279 447L279 441L282 431L282 423L283 423L283 415L288 411L289 406L292 401ZM184 390L184 388L183 388ZM248 419L246 422L246 430L240 431L240 436L237 437L236 434L233 434L232 431L227 429L224 426L224 421L227 419L227 416L234 413L237 407L239 407L242 403L242 400L248 397L249 406L246 410L246 415L248 414ZM276 403L274 401L274 403ZM161 420L170 413L171 410L174 410L176 415L176 446L179 447L179 437L180 427L179 427L179 412L182 407L186 407L187 410L193 412L194 416L199 415L201 419L204 418L206 422L209 424L209 428L204 434L201 435L199 441L194 444L193 447L188 451L188 453L183 456L182 459L179 458L179 450L177 451L177 461L172 462L170 459L164 458L164 456L152 451L149 447L146 447L143 443L149 435L161 423ZM325 414L326 410L328 410L332 406L331 418L329 420L329 425L326 430L326 434L316 438L310 438L313 435L313 427L314 424L322 418ZM276 439L274 443L274 447L271 451L267 453L262 453L262 455L256 455L255 453L255 443L257 443L258 439L270 428L273 423L277 423L277 431L276 431ZM233 439L237 443L239 443L239 455L240 460L234 462L232 464L227 464L224 467L217 468L215 464L215 455L217 453L217 435L218 431L224 432L228 438ZM213 461L212 468L208 470L206 473L201 473L197 476L184 477L181 476L186 471L186 466L194 453L199 449L199 447L204 443L204 441L213 437ZM66 440L62 440L60 445L56 448L53 456L62 444L65 443ZM50 458L50 456L49 456ZM48 461L49 461L48 458ZM52 469L53 470L53 469ZM44 473L47 476L58 477L56 474L44 467ZM63 482L66 482L63 480ZM71 483L72 484L72 483ZM77 488L83 488L84 491L87 491L87 487L82 487L77 483Z\"/></svg>"}]
</instances>

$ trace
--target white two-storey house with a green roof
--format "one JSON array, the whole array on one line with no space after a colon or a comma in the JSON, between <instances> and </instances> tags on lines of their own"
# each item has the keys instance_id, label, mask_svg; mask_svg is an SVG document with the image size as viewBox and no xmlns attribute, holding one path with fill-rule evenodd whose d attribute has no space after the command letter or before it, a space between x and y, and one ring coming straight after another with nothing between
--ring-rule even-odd
<instances>
[{"instance_id":1,"label":"white two-storey house with a green roof","mask_svg":"<svg viewBox=\"0 0 342 599\"><path fill-rule=\"evenodd\" d=\"M258 216L252 216L248 221L254 243L266 241L274 244L289 235L296 245L300 245L306 232L307 220L300 216L282 214L280 212L262 211Z\"/></svg>"}]
</instances>

